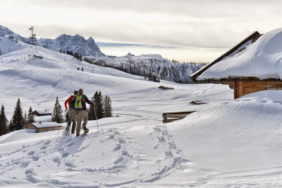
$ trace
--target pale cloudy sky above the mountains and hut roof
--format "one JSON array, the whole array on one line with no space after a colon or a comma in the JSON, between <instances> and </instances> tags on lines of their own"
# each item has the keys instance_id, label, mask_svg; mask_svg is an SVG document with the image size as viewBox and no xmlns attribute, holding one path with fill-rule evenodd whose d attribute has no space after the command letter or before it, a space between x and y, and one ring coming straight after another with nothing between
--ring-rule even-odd
<instances>
[{"instance_id":1,"label":"pale cloudy sky above the mountains and hut roof","mask_svg":"<svg viewBox=\"0 0 282 188\"><path fill-rule=\"evenodd\" d=\"M253 31L280 28L279 0L1 0L0 25L29 37L93 37L106 55L211 62Z\"/></svg>"}]
</instances>

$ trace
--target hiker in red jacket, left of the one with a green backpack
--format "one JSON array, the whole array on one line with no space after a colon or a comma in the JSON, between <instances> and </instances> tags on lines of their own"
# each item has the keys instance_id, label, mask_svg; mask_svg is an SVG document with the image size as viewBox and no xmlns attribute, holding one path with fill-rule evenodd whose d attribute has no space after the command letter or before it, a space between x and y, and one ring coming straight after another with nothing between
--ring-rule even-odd
<instances>
[{"instance_id":1,"label":"hiker in red jacket, left of the one with a green backpack","mask_svg":"<svg viewBox=\"0 0 282 188\"><path fill-rule=\"evenodd\" d=\"M67 127L66 129L70 129L70 123L72 120L72 127L71 127L71 133L74 134L75 130L76 130L76 111L73 105L70 104L70 101L76 97L76 95L78 95L78 91L75 90L73 92L74 95L71 95L66 101L65 101L65 109L67 110L67 103L69 106L69 121L67 123Z\"/></svg>"}]
</instances>

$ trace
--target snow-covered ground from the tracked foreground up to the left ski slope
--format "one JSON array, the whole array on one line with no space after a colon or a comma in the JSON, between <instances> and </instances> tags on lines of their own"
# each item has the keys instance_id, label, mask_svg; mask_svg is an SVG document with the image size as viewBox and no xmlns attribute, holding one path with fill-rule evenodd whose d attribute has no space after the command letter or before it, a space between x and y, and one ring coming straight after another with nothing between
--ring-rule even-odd
<instances>
[{"instance_id":1,"label":"snow-covered ground from the tracked foreground up to the left ski slope","mask_svg":"<svg viewBox=\"0 0 282 188\"><path fill-rule=\"evenodd\" d=\"M89 98L101 91L113 107L113 117L98 120L100 133L89 121L85 137L64 136L66 123L59 135L23 129L1 136L0 187L282 186L282 91L233 100L224 85L150 82L5 38L0 48L10 48L0 56L0 102L8 120L18 98L24 110L52 111L57 96L63 107L80 88ZM195 100L207 104L190 104ZM193 110L162 123L163 112Z\"/></svg>"}]
</instances>

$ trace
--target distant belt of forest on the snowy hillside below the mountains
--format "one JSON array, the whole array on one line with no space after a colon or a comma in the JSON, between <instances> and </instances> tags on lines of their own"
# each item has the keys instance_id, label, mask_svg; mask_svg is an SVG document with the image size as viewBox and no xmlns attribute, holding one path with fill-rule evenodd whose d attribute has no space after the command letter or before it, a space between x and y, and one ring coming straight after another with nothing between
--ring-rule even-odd
<instances>
[{"instance_id":1,"label":"distant belt of forest on the snowy hillside below the mountains","mask_svg":"<svg viewBox=\"0 0 282 188\"><path fill-rule=\"evenodd\" d=\"M60 52L65 53L65 51L62 50L60 50ZM151 58L140 61L129 59L114 64L107 63L105 60L94 60L86 57L82 58L78 53L73 53L69 50L66 51L66 54L72 55L78 60L83 60L93 65L110 67L132 75L144 76L144 78L148 79L149 81L159 82L161 79L181 84L193 84L194 82L189 76L208 64L207 62L196 63L192 61L189 63L180 63L180 61L173 59L171 60L171 65L169 65L167 62L165 62L165 60ZM77 70L79 70L79 68Z\"/></svg>"}]
</instances>

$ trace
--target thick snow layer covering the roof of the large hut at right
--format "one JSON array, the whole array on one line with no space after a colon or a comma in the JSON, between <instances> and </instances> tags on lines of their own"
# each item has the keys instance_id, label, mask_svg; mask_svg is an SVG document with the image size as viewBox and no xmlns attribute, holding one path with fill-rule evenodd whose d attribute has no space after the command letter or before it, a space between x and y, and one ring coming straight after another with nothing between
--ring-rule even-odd
<instances>
[{"instance_id":1,"label":"thick snow layer covering the roof of the large hut at right","mask_svg":"<svg viewBox=\"0 0 282 188\"><path fill-rule=\"evenodd\" d=\"M282 78L282 28L262 35L245 50L210 66L196 80L238 77Z\"/></svg>"}]
</instances>

